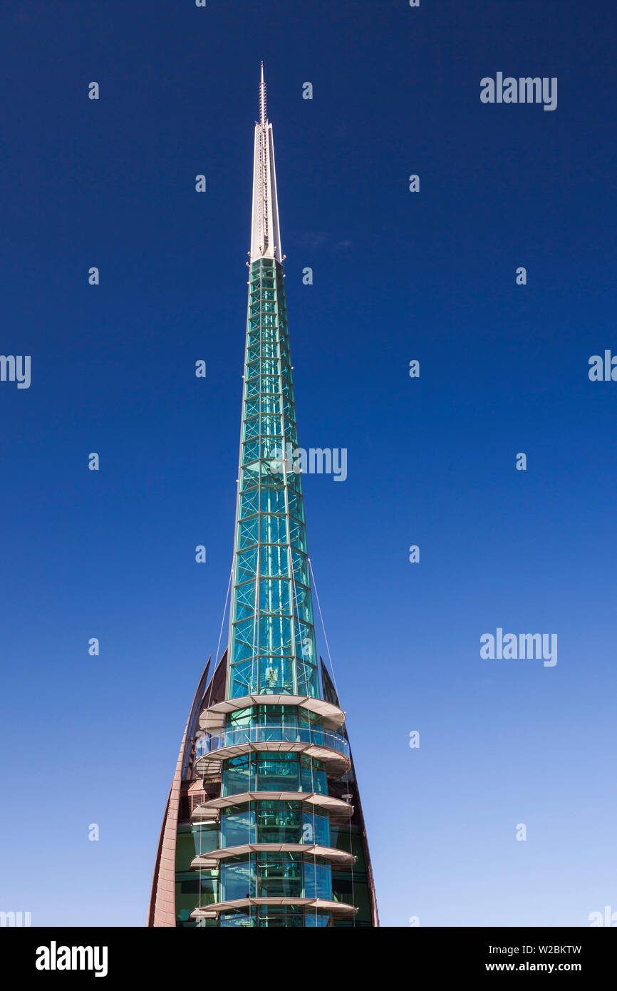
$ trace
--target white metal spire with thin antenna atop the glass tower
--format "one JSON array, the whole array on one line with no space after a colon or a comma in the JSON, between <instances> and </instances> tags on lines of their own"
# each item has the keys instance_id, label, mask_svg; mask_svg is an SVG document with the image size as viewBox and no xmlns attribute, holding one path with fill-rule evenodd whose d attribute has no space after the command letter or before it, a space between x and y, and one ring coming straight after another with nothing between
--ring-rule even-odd
<instances>
[{"instance_id":1,"label":"white metal spire with thin antenna atop the glass tower","mask_svg":"<svg viewBox=\"0 0 617 991\"><path fill-rule=\"evenodd\" d=\"M259 81L259 120L255 126L255 157L253 165L253 222L251 227L251 261L275 258L282 261L276 170L272 125L267 120L263 62Z\"/></svg>"}]
</instances>

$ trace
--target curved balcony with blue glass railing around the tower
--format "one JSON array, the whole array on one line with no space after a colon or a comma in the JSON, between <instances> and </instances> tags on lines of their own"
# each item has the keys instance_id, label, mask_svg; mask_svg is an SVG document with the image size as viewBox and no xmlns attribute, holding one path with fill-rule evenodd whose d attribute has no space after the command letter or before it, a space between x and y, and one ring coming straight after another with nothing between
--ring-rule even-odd
<instances>
[{"instance_id":1,"label":"curved balcony with blue glass railing around the tower","mask_svg":"<svg viewBox=\"0 0 617 991\"><path fill-rule=\"evenodd\" d=\"M195 773L198 777L221 769L224 760L254 750L299 752L321 760L328 774L340 776L352 765L350 745L344 736L312 726L242 726L197 741Z\"/></svg>"}]
</instances>

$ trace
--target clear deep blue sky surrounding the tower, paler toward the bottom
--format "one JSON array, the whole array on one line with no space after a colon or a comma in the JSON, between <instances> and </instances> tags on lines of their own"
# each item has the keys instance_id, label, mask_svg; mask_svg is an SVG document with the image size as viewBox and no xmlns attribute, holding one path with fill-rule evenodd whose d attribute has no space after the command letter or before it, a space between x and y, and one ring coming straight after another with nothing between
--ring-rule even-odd
<instances>
[{"instance_id":1,"label":"clear deep blue sky surrounding the tower, paler toward the bottom","mask_svg":"<svg viewBox=\"0 0 617 991\"><path fill-rule=\"evenodd\" d=\"M15 0L0 36L0 351L32 356L0 383L0 909L146 922L231 564L263 58L300 442L349 451L305 504L381 922L616 911L613 6ZM483 105L497 71L558 109ZM482 660L497 626L557 666Z\"/></svg>"}]
</instances>

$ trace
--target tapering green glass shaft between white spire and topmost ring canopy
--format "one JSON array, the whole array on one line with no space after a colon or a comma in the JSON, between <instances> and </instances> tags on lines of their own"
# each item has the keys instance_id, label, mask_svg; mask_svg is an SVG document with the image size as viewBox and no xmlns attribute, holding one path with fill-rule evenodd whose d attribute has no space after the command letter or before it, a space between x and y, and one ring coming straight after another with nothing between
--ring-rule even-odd
<instances>
[{"instance_id":1,"label":"tapering green glass shaft between white spire and topmost ring canopy","mask_svg":"<svg viewBox=\"0 0 617 991\"><path fill-rule=\"evenodd\" d=\"M319 696L283 269L253 262L230 627L230 698ZM290 469L290 470L288 470Z\"/></svg>"}]
</instances>

